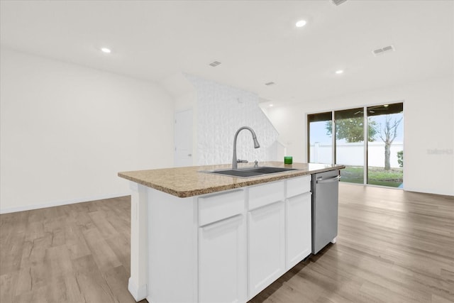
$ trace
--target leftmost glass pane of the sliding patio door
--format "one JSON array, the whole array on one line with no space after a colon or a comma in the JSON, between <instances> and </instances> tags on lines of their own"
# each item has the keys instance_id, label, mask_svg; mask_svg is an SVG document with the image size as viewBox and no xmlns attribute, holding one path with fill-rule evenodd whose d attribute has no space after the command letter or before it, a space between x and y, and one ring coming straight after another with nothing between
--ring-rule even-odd
<instances>
[{"instance_id":1,"label":"leftmost glass pane of the sliding patio door","mask_svg":"<svg viewBox=\"0 0 454 303\"><path fill-rule=\"evenodd\" d=\"M332 163L333 141L331 111L308 115L309 162Z\"/></svg>"}]
</instances>

